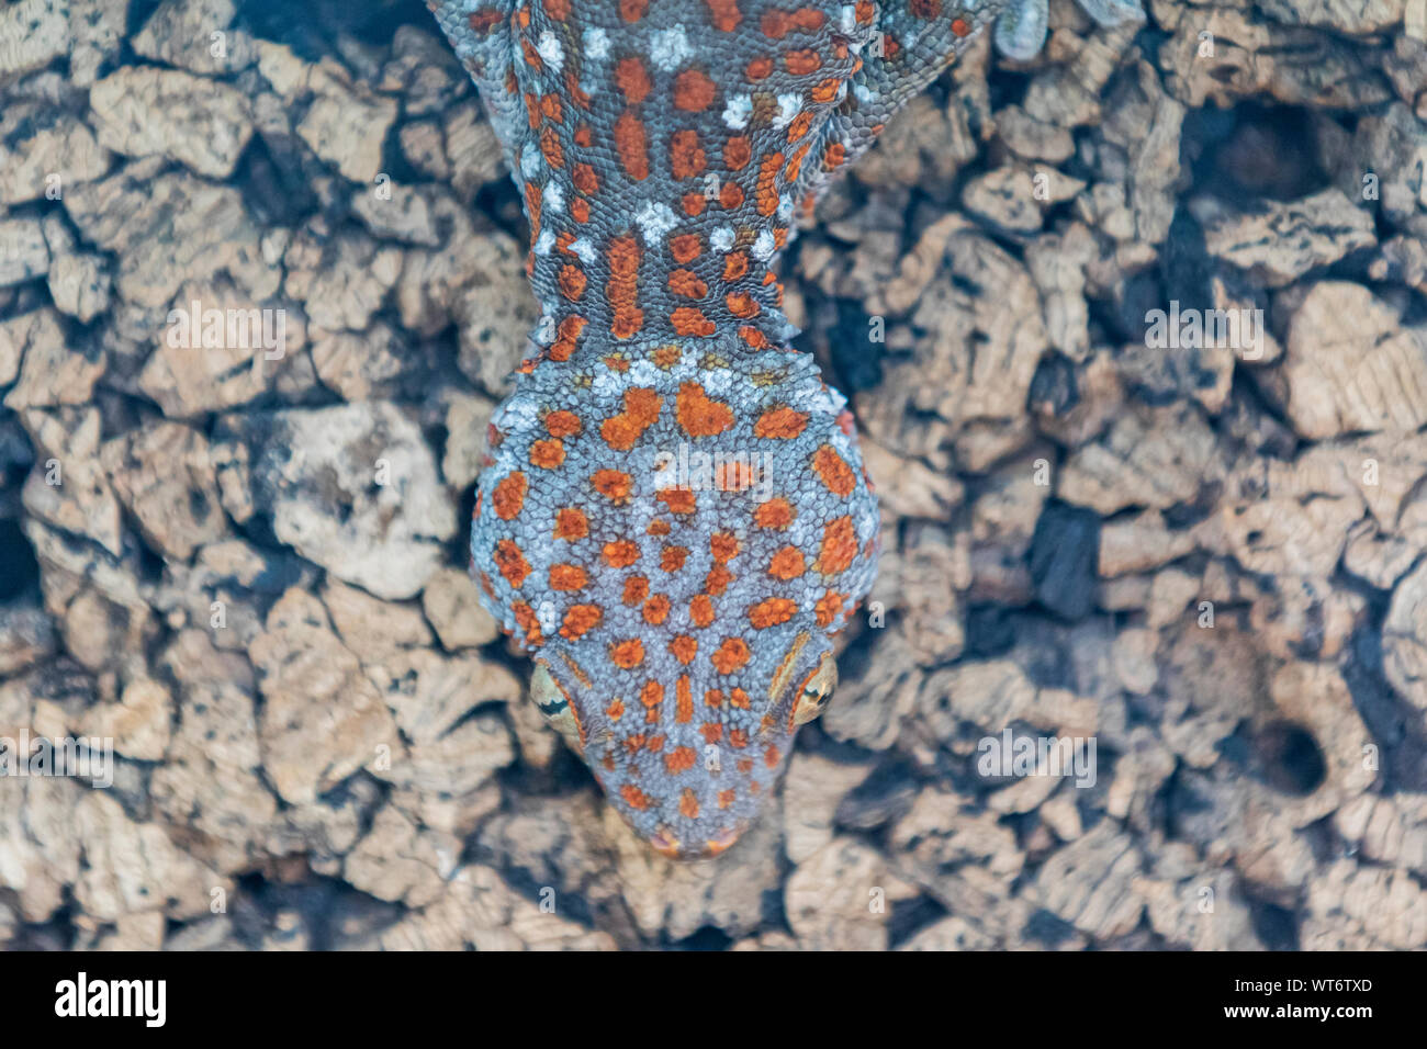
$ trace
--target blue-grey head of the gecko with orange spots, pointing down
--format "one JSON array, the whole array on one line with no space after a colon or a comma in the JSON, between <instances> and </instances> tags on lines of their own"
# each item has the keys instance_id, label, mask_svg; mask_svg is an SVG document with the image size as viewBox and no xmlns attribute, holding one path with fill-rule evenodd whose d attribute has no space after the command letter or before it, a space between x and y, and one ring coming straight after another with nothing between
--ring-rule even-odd
<instances>
[{"instance_id":1,"label":"blue-grey head of the gecko with orange spots, pointing down","mask_svg":"<svg viewBox=\"0 0 1427 1049\"><path fill-rule=\"evenodd\" d=\"M531 698L651 846L722 852L872 584L845 400L805 354L621 348L522 375L491 452L472 568Z\"/></svg>"}]
</instances>

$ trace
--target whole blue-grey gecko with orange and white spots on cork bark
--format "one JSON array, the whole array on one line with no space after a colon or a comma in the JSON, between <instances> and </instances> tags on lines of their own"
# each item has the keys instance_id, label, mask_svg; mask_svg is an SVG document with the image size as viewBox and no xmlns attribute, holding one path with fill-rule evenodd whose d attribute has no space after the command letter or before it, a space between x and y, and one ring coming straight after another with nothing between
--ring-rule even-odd
<instances>
[{"instance_id":1,"label":"whole blue-grey gecko with orange and white spots on cork bark","mask_svg":"<svg viewBox=\"0 0 1427 1049\"><path fill-rule=\"evenodd\" d=\"M1033 53L1045 4L428 0L542 308L488 427L471 571L531 699L664 855L756 819L876 571L853 417L789 344L776 260L986 26Z\"/></svg>"}]
</instances>

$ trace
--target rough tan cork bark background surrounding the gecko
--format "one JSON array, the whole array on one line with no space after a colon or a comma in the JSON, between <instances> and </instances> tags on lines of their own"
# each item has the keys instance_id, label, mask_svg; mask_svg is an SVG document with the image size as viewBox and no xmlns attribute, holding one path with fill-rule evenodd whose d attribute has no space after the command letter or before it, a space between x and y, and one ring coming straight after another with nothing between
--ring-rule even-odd
<instances>
[{"instance_id":1,"label":"rough tan cork bark background surrounding the gecko","mask_svg":"<svg viewBox=\"0 0 1427 1049\"><path fill-rule=\"evenodd\" d=\"M982 40L785 260L878 615L676 865L465 574L535 307L424 6L0 6L0 736L118 755L0 778L0 946L1427 946L1427 11L1149 13Z\"/></svg>"}]
</instances>

